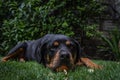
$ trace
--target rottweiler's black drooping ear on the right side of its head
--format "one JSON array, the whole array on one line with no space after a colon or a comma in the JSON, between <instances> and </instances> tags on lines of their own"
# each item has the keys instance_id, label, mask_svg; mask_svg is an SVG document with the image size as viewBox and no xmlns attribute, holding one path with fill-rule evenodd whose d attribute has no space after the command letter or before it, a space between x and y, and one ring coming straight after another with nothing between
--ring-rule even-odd
<instances>
[{"instance_id":1,"label":"rottweiler's black drooping ear on the right side of its head","mask_svg":"<svg viewBox=\"0 0 120 80\"><path fill-rule=\"evenodd\" d=\"M76 44L76 48L77 48L77 56L76 56L76 62L77 62L81 57L84 57L85 55L83 54L83 50L79 42L75 39L73 39L73 42Z\"/></svg>"}]
</instances>

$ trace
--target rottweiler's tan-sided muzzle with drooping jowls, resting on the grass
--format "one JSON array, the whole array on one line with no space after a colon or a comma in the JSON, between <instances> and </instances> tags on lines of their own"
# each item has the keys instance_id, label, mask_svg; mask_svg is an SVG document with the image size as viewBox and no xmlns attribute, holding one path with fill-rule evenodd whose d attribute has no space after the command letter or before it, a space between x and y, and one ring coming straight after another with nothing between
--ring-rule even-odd
<instances>
[{"instance_id":1,"label":"rottweiler's tan-sided muzzle with drooping jowls, resting on the grass","mask_svg":"<svg viewBox=\"0 0 120 80\"><path fill-rule=\"evenodd\" d=\"M68 71L74 68L74 60L70 54L61 56L61 54L57 52L51 62L47 64L47 67L57 72Z\"/></svg>"}]
</instances>

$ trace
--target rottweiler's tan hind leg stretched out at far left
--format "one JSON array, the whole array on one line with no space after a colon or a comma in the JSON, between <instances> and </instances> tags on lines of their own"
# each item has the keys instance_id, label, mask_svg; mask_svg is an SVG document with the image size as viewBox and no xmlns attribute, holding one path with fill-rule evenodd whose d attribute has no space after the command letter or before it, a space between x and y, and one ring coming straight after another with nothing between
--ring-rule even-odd
<instances>
[{"instance_id":1,"label":"rottweiler's tan hind leg stretched out at far left","mask_svg":"<svg viewBox=\"0 0 120 80\"><path fill-rule=\"evenodd\" d=\"M8 61L10 58L14 58L15 56L18 56L18 58L20 58L20 61L23 61L23 55L24 55L24 49L23 48L19 48L18 50L16 50L14 53L11 53L5 57L2 58L3 62Z\"/></svg>"}]
</instances>

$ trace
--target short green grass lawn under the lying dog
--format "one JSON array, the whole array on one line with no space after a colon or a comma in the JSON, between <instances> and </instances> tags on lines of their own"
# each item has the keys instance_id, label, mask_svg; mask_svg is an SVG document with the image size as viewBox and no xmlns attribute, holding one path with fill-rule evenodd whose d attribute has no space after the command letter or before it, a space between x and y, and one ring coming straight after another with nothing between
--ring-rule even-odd
<instances>
[{"instance_id":1,"label":"short green grass lawn under the lying dog","mask_svg":"<svg viewBox=\"0 0 120 80\"><path fill-rule=\"evenodd\" d=\"M0 62L0 80L119 80L120 62L94 61L103 65L102 70L90 72L86 67L77 67L75 71L52 72L36 62Z\"/></svg>"}]
</instances>

